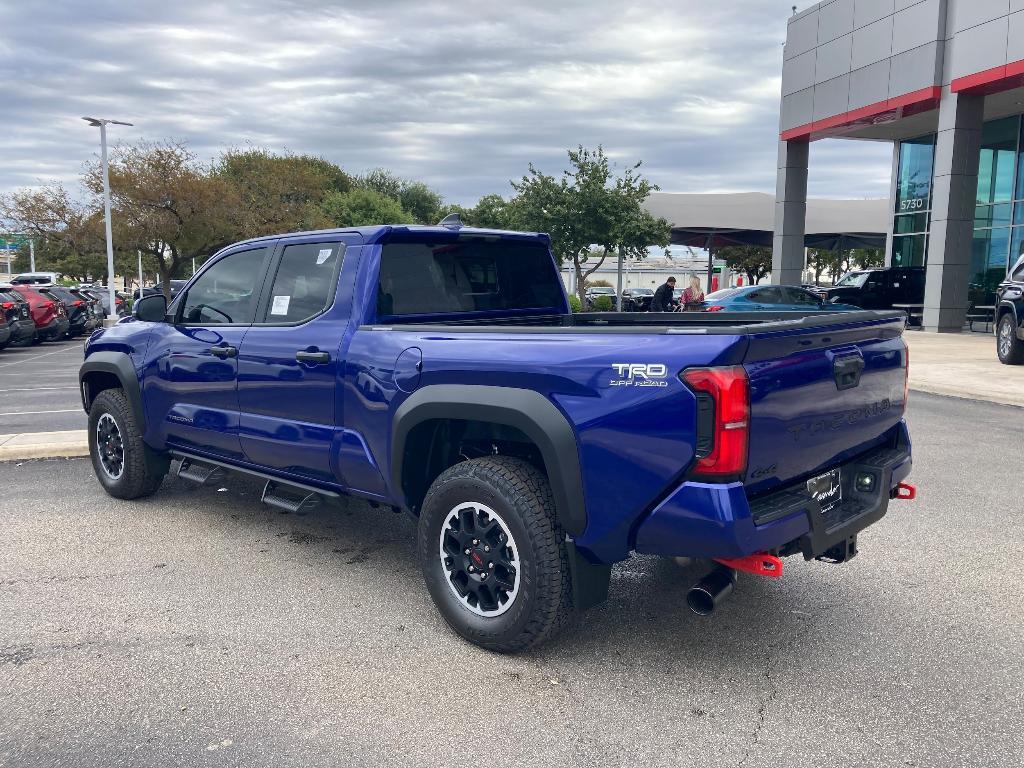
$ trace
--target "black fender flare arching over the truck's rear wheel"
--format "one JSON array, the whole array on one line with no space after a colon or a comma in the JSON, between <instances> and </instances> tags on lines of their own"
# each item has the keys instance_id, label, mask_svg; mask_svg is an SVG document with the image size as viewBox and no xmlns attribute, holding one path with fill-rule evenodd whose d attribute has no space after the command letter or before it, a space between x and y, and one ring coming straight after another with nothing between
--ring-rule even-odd
<instances>
[{"instance_id":1,"label":"black fender flare arching over the truck's rear wheel","mask_svg":"<svg viewBox=\"0 0 1024 768\"><path fill-rule=\"evenodd\" d=\"M391 423L390 483L408 508L422 500L407 498L406 444L417 425L433 420L485 422L525 434L544 460L559 524L567 534L583 532L587 513L577 437L551 400L529 389L464 384L434 384L406 398Z\"/></svg>"}]
</instances>

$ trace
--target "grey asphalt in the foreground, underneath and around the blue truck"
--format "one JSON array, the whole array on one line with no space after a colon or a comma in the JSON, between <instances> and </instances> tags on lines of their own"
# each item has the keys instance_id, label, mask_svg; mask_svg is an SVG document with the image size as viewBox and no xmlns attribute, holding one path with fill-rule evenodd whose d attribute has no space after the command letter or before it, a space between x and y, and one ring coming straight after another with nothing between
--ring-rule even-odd
<instances>
[{"instance_id":1,"label":"grey asphalt in the foreground, underneath and around the blue truck","mask_svg":"<svg viewBox=\"0 0 1024 768\"><path fill-rule=\"evenodd\" d=\"M697 571L637 557L519 656L447 631L404 516L0 464L0 765L1020 766L1021 412L909 419L919 499L850 564L698 618Z\"/></svg>"}]
</instances>

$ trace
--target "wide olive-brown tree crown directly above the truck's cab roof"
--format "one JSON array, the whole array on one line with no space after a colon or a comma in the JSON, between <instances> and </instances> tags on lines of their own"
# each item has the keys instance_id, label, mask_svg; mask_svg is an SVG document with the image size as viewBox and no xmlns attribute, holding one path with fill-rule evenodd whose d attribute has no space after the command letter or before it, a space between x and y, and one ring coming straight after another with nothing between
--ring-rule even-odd
<instances>
[{"instance_id":1,"label":"wide olive-brown tree crown directly above the truck's cab roof","mask_svg":"<svg viewBox=\"0 0 1024 768\"><path fill-rule=\"evenodd\" d=\"M321 204L331 193L347 193L352 179L341 168L310 155L273 155L266 150L228 150L215 173L234 191L238 240L328 225Z\"/></svg>"}]
</instances>

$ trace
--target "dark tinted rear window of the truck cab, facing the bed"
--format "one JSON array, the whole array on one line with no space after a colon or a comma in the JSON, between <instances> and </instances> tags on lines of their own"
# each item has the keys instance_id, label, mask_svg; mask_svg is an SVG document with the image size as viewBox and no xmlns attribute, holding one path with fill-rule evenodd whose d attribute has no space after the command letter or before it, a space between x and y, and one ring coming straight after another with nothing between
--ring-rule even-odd
<instances>
[{"instance_id":1,"label":"dark tinted rear window of the truck cab, facing the bed","mask_svg":"<svg viewBox=\"0 0 1024 768\"><path fill-rule=\"evenodd\" d=\"M381 249L377 317L567 311L547 244L410 232Z\"/></svg>"}]
</instances>

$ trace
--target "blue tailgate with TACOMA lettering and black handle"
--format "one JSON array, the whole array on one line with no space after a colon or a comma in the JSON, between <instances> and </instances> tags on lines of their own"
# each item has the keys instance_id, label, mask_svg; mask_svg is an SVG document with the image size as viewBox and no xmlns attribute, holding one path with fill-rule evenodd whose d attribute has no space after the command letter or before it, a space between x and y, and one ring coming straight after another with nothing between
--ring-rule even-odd
<instances>
[{"instance_id":1,"label":"blue tailgate with TACOMA lettering and black handle","mask_svg":"<svg viewBox=\"0 0 1024 768\"><path fill-rule=\"evenodd\" d=\"M754 332L743 358L751 495L813 477L892 436L905 407L902 313Z\"/></svg>"}]
</instances>

